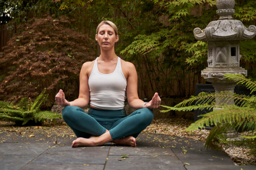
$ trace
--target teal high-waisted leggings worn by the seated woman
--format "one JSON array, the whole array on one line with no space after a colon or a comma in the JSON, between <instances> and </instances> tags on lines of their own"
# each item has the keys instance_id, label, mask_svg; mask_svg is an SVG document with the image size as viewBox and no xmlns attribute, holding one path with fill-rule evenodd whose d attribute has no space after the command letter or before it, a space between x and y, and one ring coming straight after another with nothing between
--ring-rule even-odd
<instances>
[{"instance_id":1,"label":"teal high-waisted leggings worn by the seated woman","mask_svg":"<svg viewBox=\"0 0 256 170\"><path fill-rule=\"evenodd\" d=\"M99 110L90 108L86 114L76 106L66 106L62 117L77 137L100 136L109 130L113 140L130 136L137 137L153 120L153 112L148 108L136 110L126 116L125 109Z\"/></svg>"}]
</instances>

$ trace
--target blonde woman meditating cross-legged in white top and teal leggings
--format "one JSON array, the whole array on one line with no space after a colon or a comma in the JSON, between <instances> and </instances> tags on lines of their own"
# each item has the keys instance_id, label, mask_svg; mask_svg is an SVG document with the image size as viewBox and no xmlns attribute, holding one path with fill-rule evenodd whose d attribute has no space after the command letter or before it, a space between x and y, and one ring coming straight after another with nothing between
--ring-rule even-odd
<instances>
[{"instance_id":1,"label":"blonde woman meditating cross-legged in white top and teal leggings","mask_svg":"<svg viewBox=\"0 0 256 170\"><path fill-rule=\"evenodd\" d=\"M72 147L99 146L110 141L135 147L135 138L153 120L150 109L158 108L161 99L158 93L148 103L139 99L134 65L115 54L119 36L114 23L102 21L95 39L101 53L82 65L78 99L68 102L61 89L55 96L56 103L65 106L63 119L77 136ZM129 105L138 109L129 116L124 109L125 90ZM81 108L88 104L86 114Z\"/></svg>"}]
</instances>

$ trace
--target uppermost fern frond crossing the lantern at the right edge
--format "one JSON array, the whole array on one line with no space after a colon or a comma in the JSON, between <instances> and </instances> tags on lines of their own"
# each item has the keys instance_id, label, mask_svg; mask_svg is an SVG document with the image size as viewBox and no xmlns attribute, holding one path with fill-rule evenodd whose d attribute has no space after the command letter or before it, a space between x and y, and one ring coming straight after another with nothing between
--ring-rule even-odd
<instances>
[{"instance_id":1,"label":"uppermost fern frond crossing the lantern at the right edge","mask_svg":"<svg viewBox=\"0 0 256 170\"><path fill-rule=\"evenodd\" d=\"M223 75L224 78L227 78L228 80L237 82L237 84L244 84L247 89L251 90L251 94L256 91L256 82L252 81L251 79L246 78L245 76L241 74L230 74L226 73Z\"/></svg>"}]
</instances>

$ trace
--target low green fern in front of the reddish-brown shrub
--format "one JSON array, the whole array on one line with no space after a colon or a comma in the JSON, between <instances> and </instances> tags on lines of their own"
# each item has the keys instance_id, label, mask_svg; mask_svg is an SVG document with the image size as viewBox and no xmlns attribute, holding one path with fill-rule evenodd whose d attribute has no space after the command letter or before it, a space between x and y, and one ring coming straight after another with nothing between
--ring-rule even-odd
<instances>
[{"instance_id":1,"label":"low green fern in front of the reddish-brown shrub","mask_svg":"<svg viewBox=\"0 0 256 170\"><path fill-rule=\"evenodd\" d=\"M39 108L48 97L44 89L34 102L30 98L22 98L15 106L12 103L0 101L0 119L7 119L15 122L17 125L27 123L43 122L47 119L61 118L60 114L41 111Z\"/></svg>"}]
</instances>

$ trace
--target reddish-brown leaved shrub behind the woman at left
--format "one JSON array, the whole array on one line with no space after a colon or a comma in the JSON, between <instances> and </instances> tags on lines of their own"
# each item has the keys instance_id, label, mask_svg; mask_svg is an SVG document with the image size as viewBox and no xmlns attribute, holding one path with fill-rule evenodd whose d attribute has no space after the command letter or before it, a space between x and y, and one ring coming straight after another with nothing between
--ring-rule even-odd
<instances>
[{"instance_id":1,"label":"reddish-brown leaved shrub behind the woman at left","mask_svg":"<svg viewBox=\"0 0 256 170\"><path fill-rule=\"evenodd\" d=\"M95 42L69 24L63 17L33 18L8 42L0 53L0 100L35 98L44 88L49 97L43 107L53 105L60 88L68 100L78 97L79 72L96 57Z\"/></svg>"}]
</instances>

